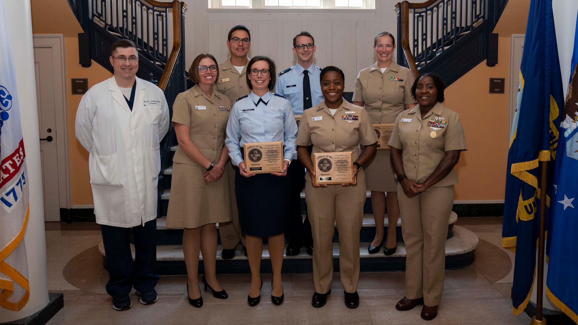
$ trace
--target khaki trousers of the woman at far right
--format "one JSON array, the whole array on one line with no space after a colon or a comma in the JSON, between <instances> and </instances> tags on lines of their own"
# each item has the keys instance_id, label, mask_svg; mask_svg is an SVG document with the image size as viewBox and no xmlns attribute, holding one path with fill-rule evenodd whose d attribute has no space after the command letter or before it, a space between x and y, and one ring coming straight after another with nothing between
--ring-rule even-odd
<instances>
[{"instance_id":1,"label":"khaki trousers of the woman at far right","mask_svg":"<svg viewBox=\"0 0 578 325\"><path fill-rule=\"evenodd\" d=\"M398 184L401 230L407 251L406 297L424 297L426 306L442 300L446 269L447 223L454 203L454 186L429 187L408 198Z\"/></svg>"}]
</instances>

